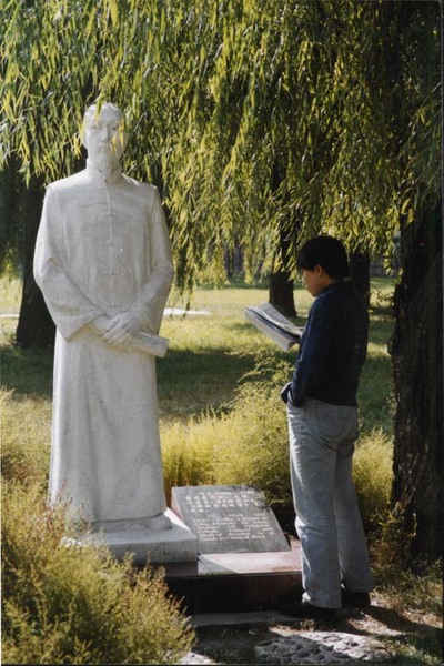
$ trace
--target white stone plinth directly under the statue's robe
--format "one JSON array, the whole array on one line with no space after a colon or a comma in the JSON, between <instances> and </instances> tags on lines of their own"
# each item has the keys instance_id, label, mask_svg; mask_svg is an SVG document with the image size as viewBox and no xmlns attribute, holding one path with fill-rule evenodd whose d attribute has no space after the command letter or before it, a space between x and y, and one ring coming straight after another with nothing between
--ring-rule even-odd
<instances>
[{"instance_id":1,"label":"white stone plinth directly under the statue's robe","mask_svg":"<svg viewBox=\"0 0 444 666\"><path fill-rule=\"evenodd\" d=\"M172 527L161 532L143 528L115 532L101 532L93 535L98 543L107 545L117 559L122 559L127 553L133 553L134 564L163 564L171 562L196 562L198 538L184 523L170 509L165 516Z\"/></svg>"}]
</instances>

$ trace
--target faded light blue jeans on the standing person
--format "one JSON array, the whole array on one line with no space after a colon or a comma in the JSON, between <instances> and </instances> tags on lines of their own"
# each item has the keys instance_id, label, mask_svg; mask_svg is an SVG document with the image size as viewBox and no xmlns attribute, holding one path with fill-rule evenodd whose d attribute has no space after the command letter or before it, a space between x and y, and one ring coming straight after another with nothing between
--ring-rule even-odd
<instances>
[{"instance_id":1,"label":"faded light blue jeans on the standing person","mask_svg":"<svg viewBox=\"0 0 444 666\"><path fill-rule=\"evenodd\" d=\"M290 467L301 541L303 598L341 607L341 581L370 592L369 551L352 480L357 408L309 398L287 403Z\"/></svg>"}]
</instances>

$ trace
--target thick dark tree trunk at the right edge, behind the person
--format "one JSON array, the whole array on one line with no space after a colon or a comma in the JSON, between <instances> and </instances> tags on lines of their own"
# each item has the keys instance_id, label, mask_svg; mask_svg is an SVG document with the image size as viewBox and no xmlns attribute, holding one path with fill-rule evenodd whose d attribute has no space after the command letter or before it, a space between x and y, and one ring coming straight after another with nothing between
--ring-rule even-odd
<instances>
[{"instance_id":1,"label":"thick dark tree trunk at the right edge, behind the person","mask_svg":"<svg viewBox=\"0 0 444 666\"><path fill-rule=\"evenodd\" d=\"M404 511L413 553L443 554L443 255L440 206L401 239L391 341L396 393L393 502Z\"/></svg>"}]
</instances>

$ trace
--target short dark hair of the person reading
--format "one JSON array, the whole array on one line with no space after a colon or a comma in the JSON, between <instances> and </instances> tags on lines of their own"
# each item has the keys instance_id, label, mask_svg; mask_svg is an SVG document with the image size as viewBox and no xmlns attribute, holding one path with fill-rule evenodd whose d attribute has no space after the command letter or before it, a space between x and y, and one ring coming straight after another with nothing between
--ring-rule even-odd
<instances>
[{"instance_id":1,"label":"short dark hair of the person reading","mask_svg":"<svg viewBox=\"0 0 444 666\"><path fill-rule=\"evenodd\" d=\"M320 235L306 241L297 253L299 271L313 271L320 265L334 280L349 278L349 261L344 245L337 239Z\"/></svg>"}]
</instances>

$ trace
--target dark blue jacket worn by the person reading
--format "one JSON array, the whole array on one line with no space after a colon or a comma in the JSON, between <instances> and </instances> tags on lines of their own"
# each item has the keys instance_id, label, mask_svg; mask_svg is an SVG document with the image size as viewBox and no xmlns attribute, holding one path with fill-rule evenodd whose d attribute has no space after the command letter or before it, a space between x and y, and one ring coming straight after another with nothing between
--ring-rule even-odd
<instances>
[{"instance_id":1,"label":"dark blue jacket worn by the person reading","mask_svg":"<svg viewBox=\"0 0 444 666\"><path fill-rule=\"evenodd\" d=\"M369 313L361 296L347 282L330 284L310 310L283 400L290 398L295 406L303 405L306 397L356 406L367 337Z\"/></svg>"}]
</instances>

